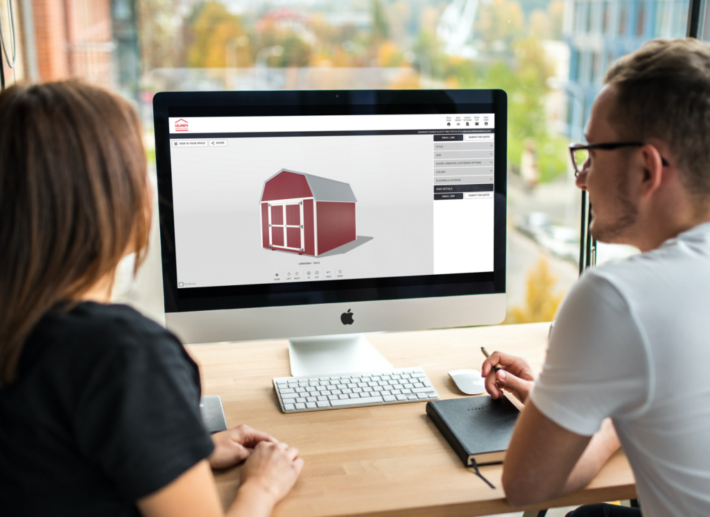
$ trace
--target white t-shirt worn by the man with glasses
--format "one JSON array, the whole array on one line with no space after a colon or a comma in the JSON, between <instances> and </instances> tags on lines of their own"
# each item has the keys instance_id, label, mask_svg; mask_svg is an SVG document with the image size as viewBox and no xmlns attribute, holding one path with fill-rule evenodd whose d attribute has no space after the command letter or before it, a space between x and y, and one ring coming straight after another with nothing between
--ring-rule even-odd
<instances>
[{"instance_id":1,"label":"white t-shirt worn by the man with glasses","mask_svg":"<svg viewBox=\"0 0 710 517\"><path fill-rule=\"evenodd\" d=\"M589 270L530 394L563 428L611 417L644 517L710 515L710 223Z\"/></svg>"}]
</instances>

